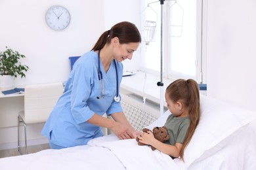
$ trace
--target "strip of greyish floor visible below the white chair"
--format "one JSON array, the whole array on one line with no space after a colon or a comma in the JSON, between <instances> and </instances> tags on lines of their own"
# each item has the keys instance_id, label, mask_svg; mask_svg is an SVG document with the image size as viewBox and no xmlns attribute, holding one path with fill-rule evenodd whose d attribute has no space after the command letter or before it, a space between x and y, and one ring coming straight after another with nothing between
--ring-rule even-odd
<instances>
[{"instance_id":1,"label":"strip of greyish floor visible below the white chair","mask_svg":"<svg viewBox=\"0 0 256 170\"><path fill-rule=\"evenodd\" d=\"M35 152L39 152L41 150L49 149L49 144L39 144L34 146L28 146L28 153L32 154ZM21 148L22 152L25 151L25 148ZM10 157L10 156L19 156L20 152L18 152L18 148L12 148L7 150L0 150L0 158Z\"/></svg>"}]
</instances>

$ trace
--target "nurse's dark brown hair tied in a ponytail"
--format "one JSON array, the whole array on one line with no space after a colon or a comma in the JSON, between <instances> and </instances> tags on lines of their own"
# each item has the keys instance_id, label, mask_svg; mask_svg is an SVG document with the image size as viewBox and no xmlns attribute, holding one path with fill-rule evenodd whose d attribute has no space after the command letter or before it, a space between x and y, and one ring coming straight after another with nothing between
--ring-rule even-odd
<instances>
[{"instance_id":1,"label":"nurse's dark brown hair tied in a ponytail","mask_svg":"<svg viewBox=\"0 0 256 170\"><path fill-rule=\"evenodd\" d=\"M100 50L105 44L110 44L111 39L117 37L120 44L128 44L129 42L141 42L140 32L136 25L131 22L119 22L110 30L100 35L100 38L93 46L92 50Z\"/></svg>"}]
</instances>

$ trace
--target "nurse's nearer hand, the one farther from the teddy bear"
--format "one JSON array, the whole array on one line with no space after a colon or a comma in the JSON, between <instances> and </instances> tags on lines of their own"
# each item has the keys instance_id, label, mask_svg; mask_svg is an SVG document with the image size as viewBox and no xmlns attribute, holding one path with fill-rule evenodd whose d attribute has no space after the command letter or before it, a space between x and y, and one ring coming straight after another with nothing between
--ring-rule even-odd
<instances>
[{"instance_id":1,"label":"nurse's nearer hand, the one farther from the teddy bear","mask_svg":"<svg viewBox=\"0 0 256 170\"><path fill-rule=\"evenodd\" d=\"M114 122L111 130L116 134L119 139L133 139L134 134L133 131L129 131L129 129L120 124L119 122Z\"/></svg>"}]
</instances>

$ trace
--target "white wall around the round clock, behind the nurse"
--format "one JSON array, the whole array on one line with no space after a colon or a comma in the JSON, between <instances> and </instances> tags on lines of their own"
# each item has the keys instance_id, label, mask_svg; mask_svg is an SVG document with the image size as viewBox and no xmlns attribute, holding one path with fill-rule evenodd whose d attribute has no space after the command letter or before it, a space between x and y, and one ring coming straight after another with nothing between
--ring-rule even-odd
<instances>
[{"instance_id":1,"label":"white wall around the round clock, behind the nurse","mask_svg":"<svg viewBox=\"0 0 256 170\"><path fill-rule=\"evenodd\" d=\"M70 11L70 25L63 31L50 29L45 13L52 5ZM103 0L1 0L0 50L10 46L26 56L30 67L26 78L16 78L16 86L66 80L70 56L91 50L104 31ZM95 22L96 21L96 22Z\"/></svg>"}]
</instances>

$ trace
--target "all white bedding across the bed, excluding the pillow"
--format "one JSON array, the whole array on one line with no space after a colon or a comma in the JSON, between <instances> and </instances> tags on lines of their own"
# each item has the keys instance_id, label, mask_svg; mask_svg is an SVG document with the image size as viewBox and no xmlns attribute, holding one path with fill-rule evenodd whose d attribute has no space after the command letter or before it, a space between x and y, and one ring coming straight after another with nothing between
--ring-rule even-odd
<instances>
[{"instance_id":1,"label":"all white bedding across the bed, excluding the pillow","mask_svg":"<svg viewBox=\"0 0 256 170\"><path fill-rule=\"evenodd\" d=\"M256 120L238 129L215 154L186 167L179 159L138 146L135 139L119 141L115 135L93 139L85 146L42 150L34 154L0 159L0 169L181 169L255 170ZM218 147L218 146L217 146ZM206 153L207 154L207 153Z\"/></svg>"}]
</instances>

